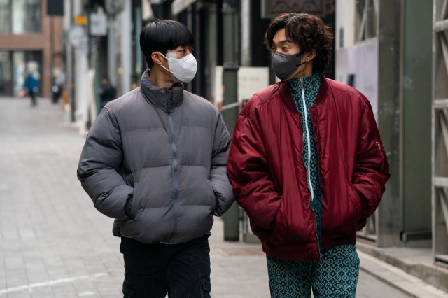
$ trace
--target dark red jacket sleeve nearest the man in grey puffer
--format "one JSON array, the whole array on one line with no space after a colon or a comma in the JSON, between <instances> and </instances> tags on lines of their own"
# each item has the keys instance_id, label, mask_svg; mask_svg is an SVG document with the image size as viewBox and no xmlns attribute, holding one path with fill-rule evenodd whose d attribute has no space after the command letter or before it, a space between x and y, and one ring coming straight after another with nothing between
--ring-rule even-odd
<instances>
[{"instance_id":1,"label":"dark red jacket sleeve nearest the man in grey puffer","mask_svg":"<svg viewBox=\"0 0 448 298\"><path fill-rule=\"evenodd\" d=\"M251 219L251 224L272 230L280 208L281 195L269 180L267 169L262 137L250 118L239 115L228 162L233 193L239 206L244 208Z\"/></svg>"}]
</instances>

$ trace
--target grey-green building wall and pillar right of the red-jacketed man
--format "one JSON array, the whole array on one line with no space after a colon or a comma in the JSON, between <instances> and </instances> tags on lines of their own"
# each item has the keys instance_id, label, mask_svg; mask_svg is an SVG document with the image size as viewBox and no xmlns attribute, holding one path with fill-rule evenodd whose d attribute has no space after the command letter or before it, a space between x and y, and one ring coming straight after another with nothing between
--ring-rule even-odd
<instances>
[{"instance_id":1,"label":"grey-green building wall and pillar right of the red-jacketed man","mask_svg":"<svg viewBox=\"0 0 448 298\"><path fill-rule=\"evenodd\" d=\"M431 246L431 1L336 1L336 79L372 103L391 180L359 238Z\"/></svg>"}]
</instances>

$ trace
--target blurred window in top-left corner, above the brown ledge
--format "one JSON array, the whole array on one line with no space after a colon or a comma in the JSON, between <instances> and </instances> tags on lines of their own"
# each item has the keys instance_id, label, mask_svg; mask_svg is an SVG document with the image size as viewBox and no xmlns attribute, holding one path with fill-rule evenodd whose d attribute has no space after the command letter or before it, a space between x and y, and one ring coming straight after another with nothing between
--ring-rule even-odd
<instances>
[{"instance_id":1,"label":"blurred window in top-left corner, above the brown ledge","mask_svg":"<svg viewBox=\"0 0 448 298\"><path fill-rule=\"evenodd\" d=\"M0 0L0 34L40 33L41 0Z\"/></svg>"}]
</instances>

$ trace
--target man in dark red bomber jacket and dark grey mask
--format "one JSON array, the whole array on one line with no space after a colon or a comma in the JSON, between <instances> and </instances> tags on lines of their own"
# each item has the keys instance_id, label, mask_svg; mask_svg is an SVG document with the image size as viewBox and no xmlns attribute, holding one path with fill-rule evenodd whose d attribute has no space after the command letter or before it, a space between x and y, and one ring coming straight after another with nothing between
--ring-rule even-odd
<instances>
[{"instance_id":1,"label":"man in dark red bomber jacket and dark grey mask","mask_svg":"<svg viewBox=\"0 0 448 298\"><path fill-rule=\"evenodd\" d=\"M318 17L276 17L265 43L281 82L248 101L233 135L230 181L274 298L355 297L356 231L390 177L370 102L322 74L331 42Z\"/></svg>"}]
</instances>

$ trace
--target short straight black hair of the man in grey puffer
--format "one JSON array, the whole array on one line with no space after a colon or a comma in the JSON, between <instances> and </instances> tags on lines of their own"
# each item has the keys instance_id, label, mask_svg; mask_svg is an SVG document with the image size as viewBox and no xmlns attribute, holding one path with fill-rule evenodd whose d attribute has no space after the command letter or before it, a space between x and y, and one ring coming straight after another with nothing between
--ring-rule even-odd
<instances>
[{"instance_id":1,"label":"short straight black hair of the man in grey puffer","mask_svg":"<svg viewBox=\"0 0 448 298\"><path fill-rule=\"evenodd\" d=\"M163 55L168 50L178 47L192 47L195 39L188 28L172 20L155 20L147 24L140 33L140 48L145 55L146 63L151 69L153 67L153 52L161 52Z\"/></svg>"}]
</instances>

